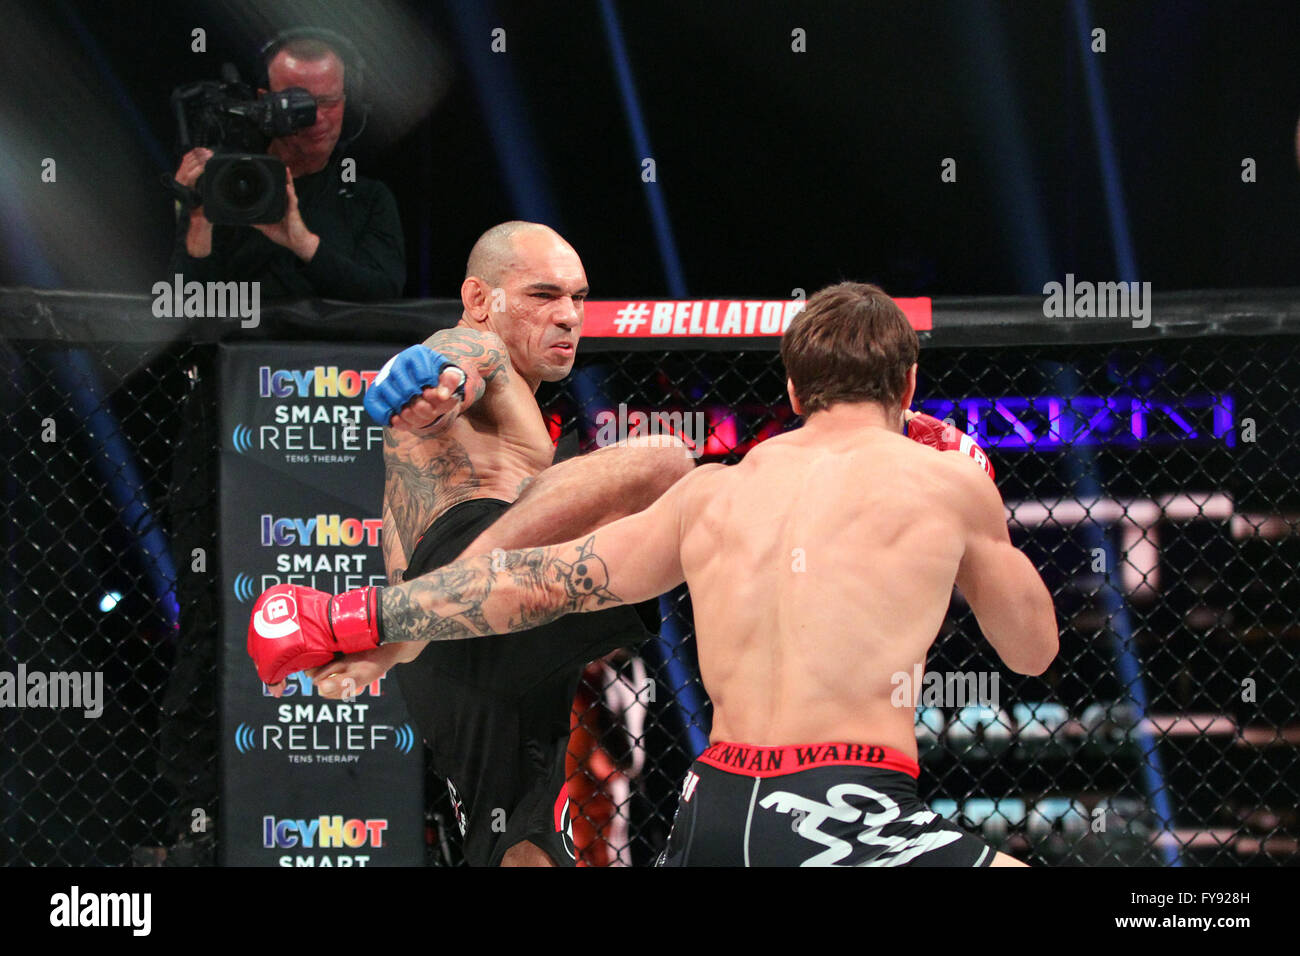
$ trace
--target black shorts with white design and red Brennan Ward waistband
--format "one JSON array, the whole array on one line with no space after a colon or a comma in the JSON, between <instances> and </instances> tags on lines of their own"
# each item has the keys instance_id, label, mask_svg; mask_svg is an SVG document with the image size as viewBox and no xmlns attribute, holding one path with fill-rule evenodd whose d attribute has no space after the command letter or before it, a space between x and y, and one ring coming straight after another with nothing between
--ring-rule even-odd
<instances>
[{"instance_id":1,"label":"black shorts with white design and red Brennan Ward waistband","mask_svg":"<svg viewBox=\"0 0 1300 956\"><path fill-rule=\"evenodd\" d=\"M993 849L926 808L889 747L716 743L692 765L659 866L988 866Z\"/></svg>"}]
</instances>

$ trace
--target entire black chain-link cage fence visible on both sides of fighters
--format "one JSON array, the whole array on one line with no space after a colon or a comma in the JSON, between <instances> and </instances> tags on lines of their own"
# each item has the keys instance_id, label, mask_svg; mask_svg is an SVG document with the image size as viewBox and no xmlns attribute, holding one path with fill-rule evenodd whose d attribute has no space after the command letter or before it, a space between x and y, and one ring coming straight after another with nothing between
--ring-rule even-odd
<instances>
[{"instance_id":1,"label":"entire black chain-link cage fence visible on both sides of fighters","mask_svg":"<svg viewBox=\"0 0 1300 956\"><path fill-rule=\"evenodd\" d=\"M915 407L987 447L1061 624L1057 661L1024 678L954 596L927 674L971 693L918 708L935 810L1031 864L1300 861L1297 347L923 347ZM82 709L3 708L6 864L213 858L190 808L217 814L218 605L177 575L192 549L216 553L212 351L4 339L0 671L90 675ZM581 450L619 403L699 414L702 462L797 424L770 347L588 351L538 398ZM689 594L660 606L660 639L593 662L575 701L585 865L654 861L707 739ZM84 719L95 675L114 706ZM966 675L996 675L993 700ZM429 860L454 865L445 786L428 797Z\"/></svg>"}]
</instances>

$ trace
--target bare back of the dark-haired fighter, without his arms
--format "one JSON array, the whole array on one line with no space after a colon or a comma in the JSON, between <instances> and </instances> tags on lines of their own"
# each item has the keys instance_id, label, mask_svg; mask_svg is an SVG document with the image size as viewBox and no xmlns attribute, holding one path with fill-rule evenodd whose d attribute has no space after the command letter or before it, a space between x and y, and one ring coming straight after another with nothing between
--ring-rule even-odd
<instances>
[{"instance_id":1,"label":"bare back of the dark-haired fighter, without his arms","mask_svg":"<svg viewBox=\"0 0 1300 956\"><path fill-rule=\"evenodd\" d=\"M809 425L699 476L681 567L715 741L915 757L890 676L924 665L948 610L970 466L885 428Z\"/></svg>"}]
</instances>

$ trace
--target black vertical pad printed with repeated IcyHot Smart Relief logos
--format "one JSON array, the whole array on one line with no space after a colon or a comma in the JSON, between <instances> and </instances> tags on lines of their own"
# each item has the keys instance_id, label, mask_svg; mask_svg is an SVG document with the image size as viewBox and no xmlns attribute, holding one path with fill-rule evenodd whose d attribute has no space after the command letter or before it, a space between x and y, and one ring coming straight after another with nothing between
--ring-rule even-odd
<instances>
[{"instance_id":1,"label":"black vertical pad printed with repeated IcyHot Smart Relief logos","mask_svg":"<svg viewBox=\"0 0 1300 956\"><path fill-rule=\"evenodd\" d=\"M387 346L221 346L222 862L424 861L420 732L395 680L325 700L303 674L272 697L247 652L274 584L386 583L384 429L361 402Z\"/></svg>"}]
</instances>

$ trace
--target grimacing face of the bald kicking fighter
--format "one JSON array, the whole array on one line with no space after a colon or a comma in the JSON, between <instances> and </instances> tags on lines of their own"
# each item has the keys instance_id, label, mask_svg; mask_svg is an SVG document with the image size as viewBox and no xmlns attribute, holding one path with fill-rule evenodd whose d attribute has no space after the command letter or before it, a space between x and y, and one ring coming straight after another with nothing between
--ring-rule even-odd
<instances>
[{"instance_id":1,"label":"grimacing face of the bald kicking fighter","mask_svg":"<svg viewBox=\"0 0 1300 956\"><path fill-rule=\"evenodd\" d=\"M582 260L563 239L545 233L516 237L516 254L500 276L503 295L489 303L506 307L493 312L493 325L525 378L559 381L572 371L582 334Z\"/></svg>"}]
</instances>

